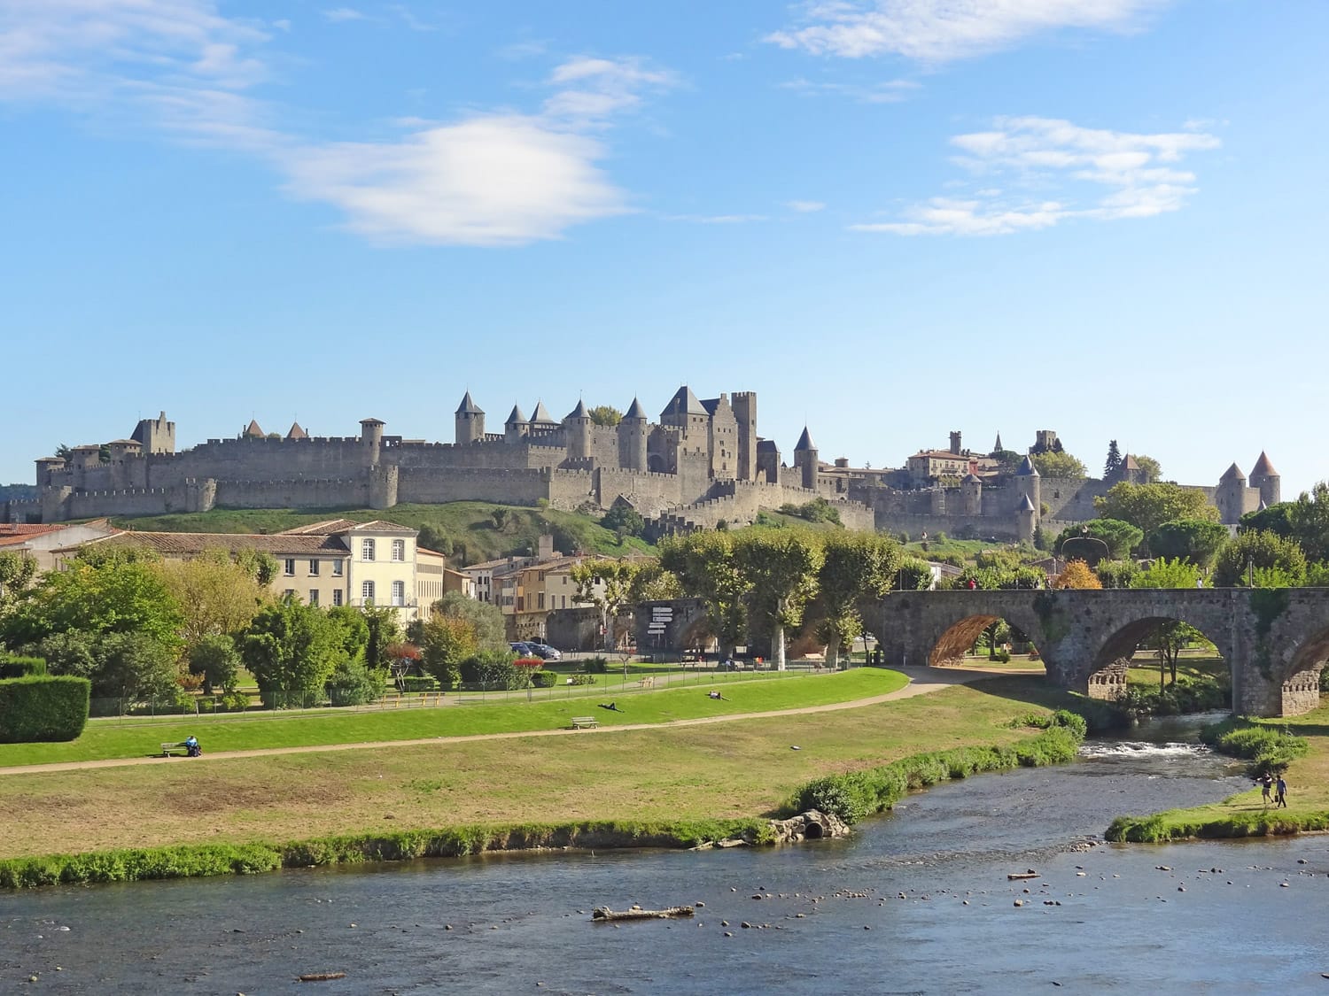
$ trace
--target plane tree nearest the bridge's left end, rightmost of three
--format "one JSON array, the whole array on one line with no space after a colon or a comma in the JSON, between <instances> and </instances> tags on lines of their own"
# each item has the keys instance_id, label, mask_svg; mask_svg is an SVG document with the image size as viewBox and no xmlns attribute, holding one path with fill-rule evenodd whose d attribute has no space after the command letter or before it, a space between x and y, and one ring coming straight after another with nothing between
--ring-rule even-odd
<instances>
[{"instance_id":1,"label":"plane tree nearest the bridge's left end, rightmost of three","mask_svg":"<svg viewBox=\"0 0 1329 996\"><path fill-rule=\"evenodd\" d=\"M832 533L823 544L817 604L827 640L827 665L839 667L840 647L863 632L863 610L890 591L900 547L872 533Z\"/></svg>"}]
</instances>

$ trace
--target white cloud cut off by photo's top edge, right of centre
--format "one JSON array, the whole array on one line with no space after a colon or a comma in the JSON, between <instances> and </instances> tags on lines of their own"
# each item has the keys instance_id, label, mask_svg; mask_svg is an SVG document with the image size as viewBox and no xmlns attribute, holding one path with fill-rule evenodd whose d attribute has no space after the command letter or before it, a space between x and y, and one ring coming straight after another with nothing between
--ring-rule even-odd
<instances>
[{"instance_id":1,"label":"white cloud cut off by photo's top edge, right of centre","mask_svg":"<svg viewBox=\"0 0 1329 996\"><path fill-rule=\"evenodd\" d=\"M1131 31L1170 0L811 0L767 41L819 56L928 62L1010 48L1062 28Z\"/></svg>"}]
</instances>

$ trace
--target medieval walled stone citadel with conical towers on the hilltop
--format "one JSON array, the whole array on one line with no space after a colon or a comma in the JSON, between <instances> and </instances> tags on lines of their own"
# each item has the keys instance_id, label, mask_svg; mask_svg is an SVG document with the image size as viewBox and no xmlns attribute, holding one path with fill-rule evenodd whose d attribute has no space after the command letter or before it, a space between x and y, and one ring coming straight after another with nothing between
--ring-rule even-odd
<instances>
[{"instance_id":1,"label":"medieval walled stone citadel with conical towers on the hilltop","mask_svg":"<svg viewBox=\"0 0 1329 996\"><path fill-rule=\"evenodd\" d=\"M77 446L36 461L39 498L0 506L5 522L64 522L102 515L159 515L226 509L391 509L400 502L486 501L565 510L607 510L626 502L655 533L746 525L763 509L832 503L852 529L918 535L1030 539L1096 515L1094 498L1138 481L1127 459L1111 479L1039 477L962 446L920 450L900 469L825 463L807 429L788 465L758 434L756 394L698 400L687 386L651 422L635 398L615 426L597 425L583 402L561 421L537 402L517 406L501 433L466 392L451 444L389 436L377 418L360 434L311 437L298 424L284 437L256 422L230 440L177 452L175 424L141 420L129 438ZM1057 445L1041 430L1034 448ZM1280 501L1277 471L1260 454L1249 479L1233 463L1215 486L1195 486L1225 523Z\"/></svg>"}]
</instances>

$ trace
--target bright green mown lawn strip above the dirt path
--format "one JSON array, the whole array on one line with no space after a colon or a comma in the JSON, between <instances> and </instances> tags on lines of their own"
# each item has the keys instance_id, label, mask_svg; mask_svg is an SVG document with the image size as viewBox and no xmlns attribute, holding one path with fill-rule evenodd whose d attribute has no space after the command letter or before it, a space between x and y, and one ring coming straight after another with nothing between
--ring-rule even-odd
<instances>
[{"instance_id":1,"label":"bright green mown lawn strip above the dirt path","mask_svg":"<svg viewBox=\"0 0 1329 996\"><path fill-rule=\"evenodd\" d=\"M859 668L836 675L747 680L720 685L726 700L715 701L703 688L634 692L611 697L618 712L598 708L599 699L514 701L486 705L448 705L428 709L379 712L310 710L290 717L211 717L207 721L90 722L69 744L0 745L0 768L9 765L142 757L157 745L194 733L203 750L256 750L262 748L323 746L423 737L455 737L567 726L573 716L590 716L605 726L667 722L698 716L742 714L804 705L868 699L908 684L893 671Z\"/></svg>"}]
</instances>

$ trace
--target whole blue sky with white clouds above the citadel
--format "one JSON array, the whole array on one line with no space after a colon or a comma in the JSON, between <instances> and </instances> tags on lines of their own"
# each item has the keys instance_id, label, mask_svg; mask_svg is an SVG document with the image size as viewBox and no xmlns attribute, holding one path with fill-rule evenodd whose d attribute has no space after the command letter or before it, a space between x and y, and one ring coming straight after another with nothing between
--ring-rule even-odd
<instances>
[{"instance_id":1,"label":"whole blue sky with white clouds above the citadel","mask_svg":"<svg viewBox=\"0 0 1329 996\"><path fill-rule=\"evenodd\" d=\"M1329 4L0 0L0 481L756 390L1326 477Z\"/></svg>"}]
</instances>

